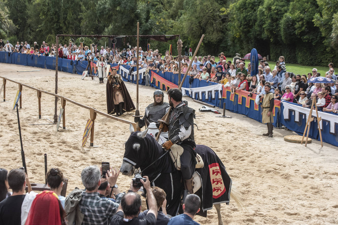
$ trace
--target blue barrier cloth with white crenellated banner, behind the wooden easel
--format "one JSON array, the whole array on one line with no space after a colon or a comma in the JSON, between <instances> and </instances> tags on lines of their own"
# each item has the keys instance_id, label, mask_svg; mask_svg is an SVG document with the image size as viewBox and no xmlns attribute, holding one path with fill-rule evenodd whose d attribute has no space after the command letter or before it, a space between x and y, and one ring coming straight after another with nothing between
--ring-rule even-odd
<instances>
[{"instance_id":1,"label":"blue barrier cloth with white crenellated banner, behind the wooden easel","mask_svg":"<svg viewBox=\"0 0 338 225\"><path fill-rule=\"evenodd\" d=\"M307 122L305 114L299 113L299 122L297 122L295 121L294 111L289 110L289 119L284 119L284 114L283 114L284 105L283 104L281 104L280 122L283 125L285 125L289 130L295 131L299 135L303 135L306 122ZM286 103L286 104L297 105L295 103ZM326 112L326 113L335 115L335 113L331 113L331 112ZM337 121L338 121L338 116L337 116ZM335 123L334 131L335 131L334 134L330 133L330 122L322 118L322 130L321 130L322 141L332 144L334 146L338 146L338 140L337 140L338 139L337 138L338 123ZM314 119L310 124L309 137L320 141L317 119Z\"/></svg>"}]
</instances>

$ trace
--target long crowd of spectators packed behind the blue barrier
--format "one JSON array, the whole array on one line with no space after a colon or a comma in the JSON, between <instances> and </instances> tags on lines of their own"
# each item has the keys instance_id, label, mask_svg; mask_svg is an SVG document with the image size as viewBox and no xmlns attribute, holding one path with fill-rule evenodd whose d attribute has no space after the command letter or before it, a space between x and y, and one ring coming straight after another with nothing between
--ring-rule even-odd
<instances>
[{"instance_id":1,"label":"long crowd of spectators packed behind the blue barrier","mask_svg":"<svg viewBox=\"0 0 338 225\"><path fill-rule=\"evenodd\" d=\"M156 72L172 72L173 74L186 73L190 58L188 56L188 48L184 49L185 55L182 56L179 62L178 57L169 55L169 51L165 54L161 54L158 49L149 51L143 51L142 47L131 47L129 43L126 44L126 48L120 51L119 48L110 49L108 47L101 46L98 48L96 45L90 46L76 46L72 43L59 44L57 47L55 44L49 45L43 41L39 46L36 42L30 46L27 41L25 43L17 42L15 46L6 43L0 39L0 51L7 51L10 53L21 52L23 54L44 55L49 57L55 57L56 51L58 51L58 57L71 59L71 60L93 60L98 61L100 56L104 57L107 63L117 63L119 65L130 65L131 73L133 67L139 63L140 68L146 68L146 72L154 70ZM139 58L137 59L137 52ZM191 48L189 49L189 55L191 55ZM279 60L271 69L269 63L266 61L266 57L260 61L258 66L258 73L256 76L251 76L250 62L246 66L245 59L240 57L240 54L236 53L236 56L231 60L226 60L224 53L219 55L219 61L216 61L215 56L196 56L192 59L192 66L189 69L189 83L191 84L194 79L205 80L206 82L215 82L224 85L225 87L231 87L231 91L247 90L252 93L264 94L264 84L271 85L271 92L274 93L276 89L279 89L275 94L275 99L285 100L293 103L308 107L307 102L310 99L312 93L316 94L316 102L319 100L317 106L319 110L329 111L336 113L338 110L337 97L337 76L334 74L334 65L329 63L329 71L325 73L325 77L331 78L336 82L333 84L319 84L309 83L308 80L312 77L319 77L317 69L313 68L312 73L307 75L295 75L288 72L286 69L285 59L280 56ZM179 69L180 66L180 69ZM264 80L265 83L261 81ZM322 95L322 98L318 96L318 92ZM331 96L336 95L331 100ZM323 99L325 103L323 104Z\"/></svg>"}]
</instances>

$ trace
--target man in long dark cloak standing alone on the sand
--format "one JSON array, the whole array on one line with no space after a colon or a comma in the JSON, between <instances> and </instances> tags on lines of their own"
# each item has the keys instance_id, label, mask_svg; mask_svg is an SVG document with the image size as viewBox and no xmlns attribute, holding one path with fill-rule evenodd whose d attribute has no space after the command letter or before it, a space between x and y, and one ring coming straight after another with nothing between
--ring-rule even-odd
<instances>
[{"instance_id":1,"label":"man in long dark cloak standing alone on the sand","mask_svg":"<svg viewBox=\"0 0 338 225\"><path fill-rule=\"evenodd\" d=\"M108 114L116 113L116 116L121 116L124 112L135 109L121 75L116 74L116 68L112 68L112 74L108 76L106 89Z\"/></svg>"}]
</instances>

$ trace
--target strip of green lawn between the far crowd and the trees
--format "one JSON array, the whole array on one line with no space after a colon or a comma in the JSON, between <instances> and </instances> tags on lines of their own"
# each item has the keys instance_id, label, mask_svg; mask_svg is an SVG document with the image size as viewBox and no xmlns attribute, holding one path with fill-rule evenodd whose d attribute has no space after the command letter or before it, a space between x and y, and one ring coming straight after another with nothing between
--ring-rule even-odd
<instances>
[{"instance_id":1,"label":"strip of green lawn between the far crowd and the trees","mask_svg":"<svg viewBox=\"0 0 338 225\"><path fill-rule=\"evenodd\" d=\"M189 58L191 59L192 56L189 56ZM226 61L231 60L232 61L233 57L226 57ZM219 61L219 58L216 57L216 60ZM250 60L246 59L245 60L245 65L248 64ZM268 61L269 66L271 69L274 68L275 66L275 61ZM328 62L329 64L329 62ZM300 74L300 75L307 75L308 73L312 73L312 69L313 68L317 68L318 72L320 73L320 76L325 77L325 73L329 71L329 67L324 67L324 66L303 66L303 65L299 65L299 64L291 64L291 63L286 63L286 71L288 72L292 72L295 75Z\"/></svg>"}]
</instances>

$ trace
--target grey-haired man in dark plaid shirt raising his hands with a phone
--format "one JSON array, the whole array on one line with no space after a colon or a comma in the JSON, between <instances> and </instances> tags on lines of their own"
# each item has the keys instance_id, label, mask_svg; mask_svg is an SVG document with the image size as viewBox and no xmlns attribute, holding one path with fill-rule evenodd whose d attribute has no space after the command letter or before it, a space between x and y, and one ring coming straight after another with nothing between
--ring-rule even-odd
<instances>
[{"instance_id":1,"label":"grey-haired man in dark plaid shirt raising his hands with a phone","mask_svg":"<svg viewBox=\"0 0 338 225\"><path fill-rule=\"evenodd\" d=\"M113 187L116 184L117 177L120 171L114 171L111 167L112 173L107 171L107 181ZM84 214L82 225L103 224L107 225L112 216L115 215L119 204L109 200L108 198L100 198L97 192L101 185L101 172L97 166L88 166L81 172L81 180L86 191L82 192L82 198L79 202L81 213ZM123 196L120 193L117 200Z\"/></svg>"}]
</instances>

